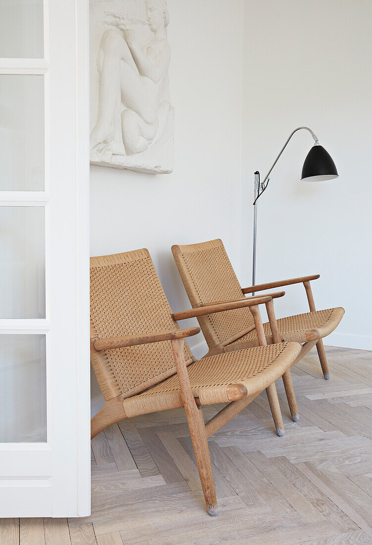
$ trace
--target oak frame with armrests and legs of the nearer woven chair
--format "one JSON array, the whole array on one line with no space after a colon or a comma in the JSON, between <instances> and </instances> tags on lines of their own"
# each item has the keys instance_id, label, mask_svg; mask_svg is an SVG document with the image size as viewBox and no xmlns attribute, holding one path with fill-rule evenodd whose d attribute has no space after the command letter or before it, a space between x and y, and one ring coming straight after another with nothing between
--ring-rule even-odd
<instances>
[{"instance_id":1,"label":"oak frame with armrests and legs of the nearer woven chair","mask_svg":"<svg viewBox=\"0 0 372 545\"><path fill-rule=\"evenodd\" d=\"M217 305L205 306L196 310L191 309L181 313L174 313L172 317L175 320L176 316L178 315L181 315L181 317L179 318L181 319L194 315L200 316L201 314L216 313L231 310L233 308L249 306L253 311L254 323L258 331L260 332L259 342L261 346L265 347L267 343L265 335L263 335L263 324L258 305L270 305L270 302L272 302L271 296L264 296L261 298L249 298L240 301L230 301L223 302ZM175 322L175 325L178 324L176 324ZM274 324L273 327L275 328ZM238 414L243 408L245 408L249 403L251 403L251 401L253 401L253 399L255 399L255 397L257 397L264 389L266 389L267 392L267 397L269 399L277 430L283 428L283 421L282 415L280 413L279 401L275 387L276 379L273 379L272 375L269 372L265 374L265 371L263 371L261 373L260 384L258 386L256 385L255 389L252 389L250 395L248 395L247 387L243 384L228 385L228 404L221 411L219 411L219 413L212 417L211 420L209 420L207 423L204 423L203 412L201 408L202 404L200 403L200 399L194 397L192 392L184 351L185 338L197 335L199 331L199 327L192 327L186 329L158 331L153 333L142 333L138 335L92 338L90 342L90 348L91 354L95 355L98 352L106 350L118 349L123 347L133 347L139 344L151 344L163 341L170 341L175 362L176 374L178 376L180 386L181 400L179 407L185 408L186 418L188 422L188 427L190 429L191 440L196 457L200 482L202 484L207 511L211 516L215 516L217 514L217 499L208 447L208 437L210 437L212 433L216 432L225 423L231 420L231 418ZM285 352L285 350L287 349L288 351ZM257 350L259 350L259 348L257 348ZM280 356L282 357L282 360L280 360L280 364L279 362L277 363L276 376L278 375L278 372L282 373L282 371L284 372L291 366L292 361L295 360L299 352L300 345L298 343L285 343L285 348L283 350L284 356L282 353L282 356ZM280 371L278 371L279 369ZM126 398L126 400L127 399L128 397ZM105 406L91 420L92 438L94 438L98 433L103 431L103 429L112 425L113 423L128 418L127 414L125 413L123 402L124 396L121 394L110 399L105 399Z\"/></svg>"}]
</instances>

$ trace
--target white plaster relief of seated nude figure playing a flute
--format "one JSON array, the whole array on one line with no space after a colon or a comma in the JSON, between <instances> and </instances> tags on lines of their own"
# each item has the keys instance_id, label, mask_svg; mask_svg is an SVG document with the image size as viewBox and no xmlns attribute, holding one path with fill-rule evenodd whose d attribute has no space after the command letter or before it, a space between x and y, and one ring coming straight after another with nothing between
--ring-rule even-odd
<instances>
[{"instance_id":1,"label":"white plaster relief of seated nude figure playing a flute","mask_svg":"<svg viewBox=\"0 0 372 545\"><path fill-rule=\"evenodd\" d=\"M173 170L165 0L90 0L90 162Z\"/></svg>"}]
</instances>

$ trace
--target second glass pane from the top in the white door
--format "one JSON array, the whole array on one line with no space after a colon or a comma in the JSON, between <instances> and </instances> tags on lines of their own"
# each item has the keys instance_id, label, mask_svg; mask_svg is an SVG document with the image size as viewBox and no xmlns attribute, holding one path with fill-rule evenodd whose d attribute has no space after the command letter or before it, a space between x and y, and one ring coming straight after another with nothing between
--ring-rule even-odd
<instances>
[{"instance_id":1,"label":"second glass pane from the top in the white door","mask_svg":"<svg viewBox=\"0 0 372 545\"><path fill-rule=\"evenodd\" d=\"M0 75L0 110L0 191L44 190L44 76Z\"/></svg>"}]
</instances>

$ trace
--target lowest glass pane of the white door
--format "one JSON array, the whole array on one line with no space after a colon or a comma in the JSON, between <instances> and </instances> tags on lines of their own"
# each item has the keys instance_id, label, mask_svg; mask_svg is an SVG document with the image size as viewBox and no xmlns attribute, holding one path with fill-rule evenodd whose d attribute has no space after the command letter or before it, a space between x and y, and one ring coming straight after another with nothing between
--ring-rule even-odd
<instances>
[{"instance_id":1,"label":"lowest glass pane of the white door","mask_svg":"<svg viewBox=\"0 0 372 545\"><path fill-rule=\"evenodd\" d=\"M44 335L0 335L0 443L46 441Z\"/></svg>"}]
</instances>

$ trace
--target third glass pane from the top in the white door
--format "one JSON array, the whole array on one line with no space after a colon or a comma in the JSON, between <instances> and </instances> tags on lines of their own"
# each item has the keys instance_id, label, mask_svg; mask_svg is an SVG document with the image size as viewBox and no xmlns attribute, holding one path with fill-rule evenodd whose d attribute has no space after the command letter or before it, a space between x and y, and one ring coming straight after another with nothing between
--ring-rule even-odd
<instances>
[{"instance_id":1,"label":"third glass pane from the top in the white door","mask_svg":"<svg viewBox=\"0 0 372 545\"><path fill-rule=\"evenodd\" d=\"M0 207L0 318L45 318L44 208Z\"/></svg>"}]
</instances>

